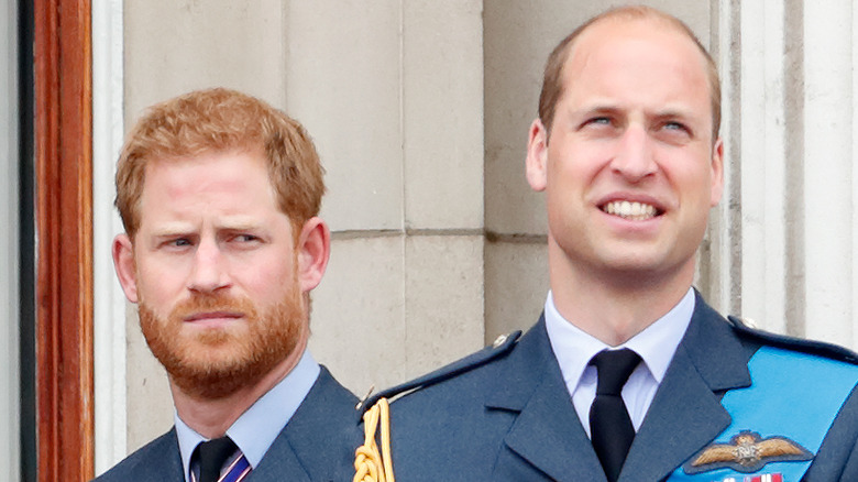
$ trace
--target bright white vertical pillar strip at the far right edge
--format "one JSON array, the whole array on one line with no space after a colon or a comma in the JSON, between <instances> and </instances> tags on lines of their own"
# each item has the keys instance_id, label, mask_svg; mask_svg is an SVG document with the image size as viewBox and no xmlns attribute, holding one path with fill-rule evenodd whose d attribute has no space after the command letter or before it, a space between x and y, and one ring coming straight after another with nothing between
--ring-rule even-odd
<instances>
[{"instance_id":1,"label":"bright white vertical pillar strip at the far right edge","mask_svg":"<svg viewBox=\"0 0 858 482\"><path fill-rule=\"evenodd\" d=\"M809 338L853 344L853 1L804 2L804 260Z\"/></svg>"}]
</instances>

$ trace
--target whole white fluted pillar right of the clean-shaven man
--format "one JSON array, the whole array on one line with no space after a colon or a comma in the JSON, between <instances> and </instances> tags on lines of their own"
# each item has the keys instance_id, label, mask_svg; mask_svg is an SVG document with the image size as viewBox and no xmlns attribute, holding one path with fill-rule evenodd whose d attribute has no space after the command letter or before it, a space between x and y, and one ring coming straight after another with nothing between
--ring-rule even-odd
<instances>
[{"instance_id":1,"label":"whole white fluted pillar right of the clean-shaven man","mask_svg":"<svg viewBox=\"0 0 858 482\"><path fill-rule=\"evenodd\" d=\"M772 331L856 348L858 9L719 0L718 15L721 306Z\"/></svg>"}]
</instances>

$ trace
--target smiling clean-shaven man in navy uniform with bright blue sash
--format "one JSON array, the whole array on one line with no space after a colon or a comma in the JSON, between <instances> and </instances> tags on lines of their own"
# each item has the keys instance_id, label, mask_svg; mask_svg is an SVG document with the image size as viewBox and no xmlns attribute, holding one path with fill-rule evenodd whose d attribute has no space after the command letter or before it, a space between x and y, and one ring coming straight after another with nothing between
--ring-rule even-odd
<instances>
[{"instance_id":1,"label":"smiling clean-shaven man in navy uniform with bright blue sash","mask_svg":"<svg viewBox=\"0 0 858 482\"><path fill-rule=\"evenodd\" d=\"M543 315L369 401L410 391L389 408L398 479L858 480L855 354L727 320L692 287L719 106L712 58L658 10L558 45L526 161L548 211Z\"/></svg>"}]
</instances>

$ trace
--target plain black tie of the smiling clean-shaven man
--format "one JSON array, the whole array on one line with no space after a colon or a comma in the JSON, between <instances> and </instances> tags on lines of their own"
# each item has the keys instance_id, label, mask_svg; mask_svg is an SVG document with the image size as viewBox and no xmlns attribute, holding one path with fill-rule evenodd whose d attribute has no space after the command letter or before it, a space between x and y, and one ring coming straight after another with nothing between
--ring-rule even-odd
<instances>
[{"instance_id":1,"label":"plain black tie of the smiling clean-shaven man","mask_svg":"<svg viewBox=\"0 0 858 482\"><path fill-rule=\"evenodd\" d=\"M590 407L591 439L608 482L616 482L635 438L635 427L620 393L640 363L640 357L627 348L603 350L590 363L598 374L596 398Z\"/></svg>"}]
</instances>

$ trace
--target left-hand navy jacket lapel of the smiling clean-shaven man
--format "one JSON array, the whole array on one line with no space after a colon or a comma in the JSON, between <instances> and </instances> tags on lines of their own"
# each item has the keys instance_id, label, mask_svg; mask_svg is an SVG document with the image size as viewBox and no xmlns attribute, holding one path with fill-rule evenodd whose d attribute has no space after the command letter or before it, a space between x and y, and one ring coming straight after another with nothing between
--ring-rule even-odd
<instances>
[{"instance_id":1,"label":"left-hand navy jacket lapel of the smiling clean-shaven man","mask_svg":"<svg viewBox=\"0 0 858 482\"><path fill-rule=\"evenodd\" d=\"M552 480L586 476L604 481L551 350L544 319L540 318L518 344L509 357L505 376L498 377L498 390L486 403L488 409L518 414L505 445Z\"/></svg>"}]
</instances>

